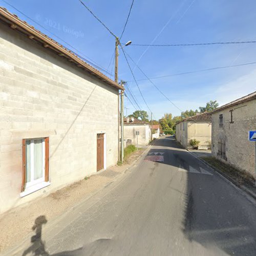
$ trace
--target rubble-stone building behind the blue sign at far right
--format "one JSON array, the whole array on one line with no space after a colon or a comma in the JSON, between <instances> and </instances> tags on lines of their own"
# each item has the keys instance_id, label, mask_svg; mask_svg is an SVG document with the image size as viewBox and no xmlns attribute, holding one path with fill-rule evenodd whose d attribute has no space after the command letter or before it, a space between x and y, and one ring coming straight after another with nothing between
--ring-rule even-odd
<instances>
[{"instance_id":1,"label":"rubble-stone building behind the blue sign at far right","mask_svg":"<svg viewBox=\"0 0 256 256\"><path fill-rule=\"evenodd\" d=\"M255 142L248 131L256 130L256 92L211 112L212 156L255 176Z\"/></svg>"}]
</instances>

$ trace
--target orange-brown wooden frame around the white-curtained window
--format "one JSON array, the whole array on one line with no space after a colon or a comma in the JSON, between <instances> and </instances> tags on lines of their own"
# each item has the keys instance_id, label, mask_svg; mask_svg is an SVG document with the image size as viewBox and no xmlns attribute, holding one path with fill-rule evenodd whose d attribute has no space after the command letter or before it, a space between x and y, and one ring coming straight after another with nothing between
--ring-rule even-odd
<instances>
[{"instance_id":1,"label":"orange-brown wooden frame around the white-curtained window","mask_svg":"<svg viewBox=\"0 0 256 256\"><path fill-rule=\"evenodd\" d=\"M42 183L42 182L49 182L49 137L46 138L28 138L28 139L23 139L22 140L22 172L23 172L23 176L22 176L22 189L21 191L24 192L26 189L26 185L28 184L26 182L26 141L27 140L35 140L35 139L42 139L43 140L43 157L45 159L44 161L44 169L43 169L43 175L41 180L38 179L36 181L33 181L32 183L29 184L29 186L33 186L36 185L37 183ZM28 187L29 187L28 186Z\"/></svg>"}]
</instances>

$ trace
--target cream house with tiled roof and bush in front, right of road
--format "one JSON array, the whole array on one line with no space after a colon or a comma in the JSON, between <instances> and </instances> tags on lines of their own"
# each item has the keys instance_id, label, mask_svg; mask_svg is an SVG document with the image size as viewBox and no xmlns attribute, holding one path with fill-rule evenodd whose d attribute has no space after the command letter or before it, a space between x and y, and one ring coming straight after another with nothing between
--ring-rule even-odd
<instances>
[{"instance_id":1,"label":"cream house with tiled roof and bush in front, right of road","mask_svg":"<svg viewBox=\"0 0 256 256\"><path fill-rule=\"evenodd\" d=\"M176 140L189 148L189 141L200 141L199 148L208 148L211 143L211 115L207 112L186 118L176 124Z\"/></svg>"}]
</instances>

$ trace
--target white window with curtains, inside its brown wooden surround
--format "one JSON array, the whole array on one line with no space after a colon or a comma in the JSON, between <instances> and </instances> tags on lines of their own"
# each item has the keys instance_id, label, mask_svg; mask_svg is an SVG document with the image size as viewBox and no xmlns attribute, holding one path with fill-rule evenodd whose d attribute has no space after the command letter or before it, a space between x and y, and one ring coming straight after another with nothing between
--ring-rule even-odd
<instances>
[{"instance_id":1,"label":"white window with curtains, inside its brown wooden surround","mask_svg":"<svg viewBox=\"0 0 256 256\"><path fill-rule=\"evenodd\" d=\"M26 187L45 181L45 139L26 139Z\"/></svg>"}]
</instances>

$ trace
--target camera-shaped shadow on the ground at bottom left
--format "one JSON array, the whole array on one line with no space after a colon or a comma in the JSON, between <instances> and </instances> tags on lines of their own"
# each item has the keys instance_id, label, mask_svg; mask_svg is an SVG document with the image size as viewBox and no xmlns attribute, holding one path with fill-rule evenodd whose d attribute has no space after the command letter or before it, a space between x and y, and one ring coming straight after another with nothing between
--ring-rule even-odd
<instances>
[{"instance_id":1,"label":"camera-shaped shadow on the ground at bottom left","mask_svg":"<svg viewBox=\"0 0 256 256\"><path fill-rule=\"evenodd\" d=\"M35 219L35 224L32 230L35 231L35 235L31 237L31 246L23 252L23 256L26 255L42 255L42 256L72 256L72 255L83 255L82 247L72 251L62 251L59 253L50 254L45 249L45 242L42 241L42 225L47 223L47 219L44 215L39 216Z\"/></svg>"}]
</instances>

